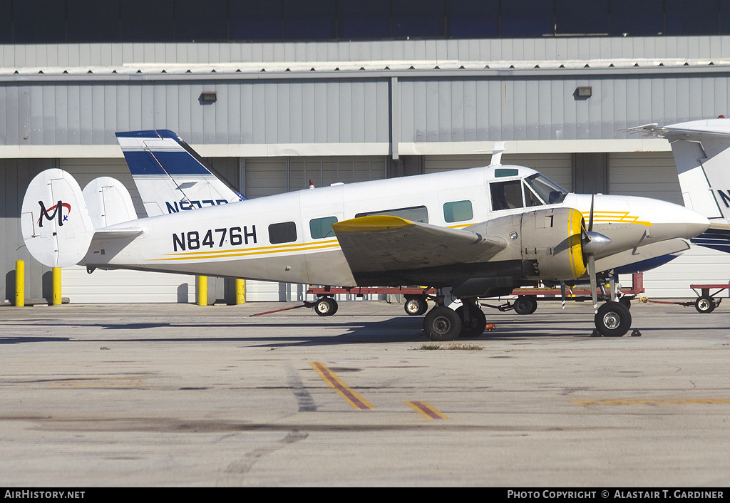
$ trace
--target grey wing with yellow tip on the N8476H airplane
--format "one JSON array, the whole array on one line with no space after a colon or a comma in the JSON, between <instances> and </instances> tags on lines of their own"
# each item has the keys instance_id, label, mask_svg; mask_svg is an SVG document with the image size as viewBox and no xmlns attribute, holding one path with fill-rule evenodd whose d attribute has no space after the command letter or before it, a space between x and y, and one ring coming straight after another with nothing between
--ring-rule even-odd
<instances>
[{"instance_id":1,"label":"grey wing with yellow tip on the N8476H airplane","mask_svg":"<svg viewBox=\"0 0 730 503\"><path fill-rule=\"evenodd\" d=\"M332 229L353 274L483 262L507 245L501 237L387 215L344 220Z\"/></svg>"}]
</instances>

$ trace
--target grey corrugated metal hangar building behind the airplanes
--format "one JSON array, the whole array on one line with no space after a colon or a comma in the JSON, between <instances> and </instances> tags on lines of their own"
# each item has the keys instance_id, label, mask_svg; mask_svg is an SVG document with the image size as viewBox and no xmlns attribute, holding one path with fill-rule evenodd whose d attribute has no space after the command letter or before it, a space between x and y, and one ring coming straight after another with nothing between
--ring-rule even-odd
<instances>
[{"instance_id":1,"label":"grey corrugated metal hangar building behind the airplanes","mask_svg":"<svg viewBox=\"0 0 730 503\"><path fill-rule=\"evenodd\" d=\"M719 0L0 0L0 282L50 272L20 237L28 182L110 175L136 198L115 131L180 134L246 196L488 164L565 188L681 204L669 145L627 133L726 115L730 8ZM207 96L207 99L204 99ZM693 249L645 274L694 296L730 260ZM211 301L226 282L210 288ZM305 287L247 282L247 300ZM71 302L190 302L194 278L64 269Z\"/></svg>"}]
</instances>

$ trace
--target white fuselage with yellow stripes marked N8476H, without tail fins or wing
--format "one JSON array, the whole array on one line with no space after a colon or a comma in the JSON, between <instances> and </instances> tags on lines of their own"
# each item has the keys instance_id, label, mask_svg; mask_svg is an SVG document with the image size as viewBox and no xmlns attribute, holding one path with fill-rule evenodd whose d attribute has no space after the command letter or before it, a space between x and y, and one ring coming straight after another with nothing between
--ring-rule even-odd
<instances>
[{"instance_id":1,"label":"white fuselage with yellow stripes marked N8476H, without tail fins or wing","mask_svg":"<svg viewBox=\"0 0 730 503\"><path fill-rule=\"evenodd\" d=\"M588 222L591 195L561 192L557 186L558 190L550 191L537 182L530 185L527 180L534 177L539 174L522 166L488 166L336 184L144 218L118 224L126 229L139 226L142 234L134 239L120 243L118 239L95 237L82 264L356 286L358 282L331 229L333 222L382 214L477 231L485 222L503 218L499 221L509 226L514 215L553 207L575 208ZM553 196L559 201L551 202ZM610 257L617 254L619 261L629 264L630 257L624 256L630 256L631 250L669 239L694 237L707 229L706 219L664 201L596 195L593 205L593 231L611 239L596 253L598 264L602 258L610 264ZM554 245L545 243L546 247ZM466 264L462 273L453 274L488 275L492 273L487 269L517 270L522 261L520 253L507 246L490 261ZM447 269L442 269L441 274L444 271ZM391 283L404 284L404 279L407 278L393 278Z\"/></svg>"}]
</instances>

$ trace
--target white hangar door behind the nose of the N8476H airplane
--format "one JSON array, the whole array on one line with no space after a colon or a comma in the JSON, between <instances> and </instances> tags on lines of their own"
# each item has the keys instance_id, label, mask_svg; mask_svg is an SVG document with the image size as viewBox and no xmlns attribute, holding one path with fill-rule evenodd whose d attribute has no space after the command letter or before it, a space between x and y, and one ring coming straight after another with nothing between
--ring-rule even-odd
<instances>
[{"instance_id":1,"label":"white hangar door behind the nose of the N8476H airplane","mask_svg":"<svg viewBox=\"0 0 730 503\"><path fill-rule=\"evenodd\" d=\"M677 167L671 152L611 153L608 157L609 192L683 204ZM645 295L651 298L689 298L692 283L727 283L730 255L692 245L679 258L644 273ZM630 285L629 277L621 283ZM723 293L721 295L727 295Z\"/></svg>"}]
</instances>

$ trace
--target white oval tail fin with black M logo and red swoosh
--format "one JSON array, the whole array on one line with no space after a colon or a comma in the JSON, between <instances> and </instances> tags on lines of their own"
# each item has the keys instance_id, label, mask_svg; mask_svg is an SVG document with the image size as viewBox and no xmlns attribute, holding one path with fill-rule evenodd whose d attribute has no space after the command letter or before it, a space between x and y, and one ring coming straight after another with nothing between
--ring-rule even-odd
<instances>
[{"instance_id":1,"label":"white oval tail fin with black M logo and red swoosh","mask_svg":"<svg viewBox=\"0 0 730 503\"><path fill-rule=\"evenodd\" d=\"M66 267L84 258L94 227L79 184L61 169L39 173L23 198L23 241L31 256L49 267Z\"/></svg>"}]
</instances>

